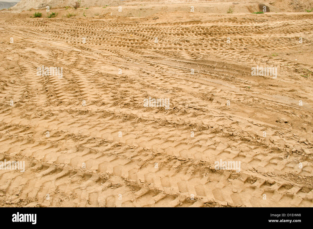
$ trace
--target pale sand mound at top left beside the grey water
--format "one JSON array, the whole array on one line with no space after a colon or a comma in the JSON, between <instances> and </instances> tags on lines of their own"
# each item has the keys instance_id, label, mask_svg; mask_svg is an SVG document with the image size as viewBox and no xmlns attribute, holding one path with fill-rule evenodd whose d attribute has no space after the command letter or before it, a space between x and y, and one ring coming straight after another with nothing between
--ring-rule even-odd
<instances>
[{"instance_id":1,"label":"pale sand mound at top left beside the grey water","mask_svg":"<svg viewBox=\"0 0 313 229\"><path fill-rule=\"evenodd\" d=\"M46 6L50 8L63 8L65 6L74 6L77 0L21 0L11 9L15 11L34 9L43 9ZM81 0L81 7L92 6L118 6L123 4L120 0Z\"/></svg>"}]
</instances>

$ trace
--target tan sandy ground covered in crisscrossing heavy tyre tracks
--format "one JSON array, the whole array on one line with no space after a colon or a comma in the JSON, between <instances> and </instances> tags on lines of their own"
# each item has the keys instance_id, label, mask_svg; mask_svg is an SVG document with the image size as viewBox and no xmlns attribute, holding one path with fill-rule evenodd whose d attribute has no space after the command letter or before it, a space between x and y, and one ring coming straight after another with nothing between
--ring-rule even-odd
<instances>
[{"instance_id":1,"label":"tan sandy ground covered in crisscrossing heavy tyre tracks","mask_svg":"<svg viewBox=\"0 0 313 229\"><path fill-rule=\"evenodd\" d=\"M313 12L215 4L0 12L0 205L313 206Z\"/></svg>"}]
</instances>

